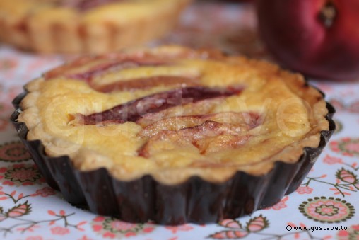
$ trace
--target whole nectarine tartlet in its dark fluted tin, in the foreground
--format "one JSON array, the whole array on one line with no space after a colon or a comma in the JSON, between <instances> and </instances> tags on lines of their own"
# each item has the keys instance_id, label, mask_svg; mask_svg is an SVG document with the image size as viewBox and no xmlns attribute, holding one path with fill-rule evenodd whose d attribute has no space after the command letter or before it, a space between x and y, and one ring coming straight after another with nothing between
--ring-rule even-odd
<instances>
[{"instance_id":1,"label":"whole nectarine tartlet in its dark fluted tin, in the foreground","mask_svg":"<svg viewBox=\"0 0 359 240\"><path fill-rule=\"evenodd\" d=\"M335 125L300 74L179 46L82 57L12 120L49 185L129 222L216 222L298 188Z\"/></svg>"}]
</instances>

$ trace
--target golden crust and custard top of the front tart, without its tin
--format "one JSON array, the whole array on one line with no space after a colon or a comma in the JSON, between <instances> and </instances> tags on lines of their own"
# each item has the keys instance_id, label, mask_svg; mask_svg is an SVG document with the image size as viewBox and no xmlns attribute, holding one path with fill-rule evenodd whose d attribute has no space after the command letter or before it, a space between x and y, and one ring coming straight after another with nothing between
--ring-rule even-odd
<instances>
[{"instance_id":1,"label":"golden crust and custard top of the front tart, without its tin","mask_svg":"<svg viewBox=\"0 0 359 240\"><path fill-rule=\"evenodd\" d=\"M93 113L177 89L177 80L169 84L173 77L183 79L182 89L196 82L198 91L230 93L196 102L193 97L192 103L136 120L86 123ZM147 79L149 87L134 87L133 79L141 84ZM103 86L114 91L102 91ZM237 171L261 176L276 161L298 161L303 148L318 147L321 132L329 130L322 94L300 74L184 47L83 58L26 89L18 121L27 125L28 140L40 139L49 156L69 155L81 171L105 167L124 181L146 174L170 185L191 176L224 182Z\"/></svg>"}]
</instances>

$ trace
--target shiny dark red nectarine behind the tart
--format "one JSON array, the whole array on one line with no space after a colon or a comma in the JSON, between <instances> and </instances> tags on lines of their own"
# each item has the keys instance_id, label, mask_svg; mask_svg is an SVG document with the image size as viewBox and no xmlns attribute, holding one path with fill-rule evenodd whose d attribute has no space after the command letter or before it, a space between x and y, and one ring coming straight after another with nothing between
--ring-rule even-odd
<instances>
[{"instance_id":1,"label":"shiny dark red nectarine behind the tart","mask_svg":"<svg viewBox=\"0 0 359 240\"><path fill-rule=\"evenodd\" d=\"M358 0L257 0L257 16L261 39L284 67L359 78Z\"/></svg>"}]
</instances>

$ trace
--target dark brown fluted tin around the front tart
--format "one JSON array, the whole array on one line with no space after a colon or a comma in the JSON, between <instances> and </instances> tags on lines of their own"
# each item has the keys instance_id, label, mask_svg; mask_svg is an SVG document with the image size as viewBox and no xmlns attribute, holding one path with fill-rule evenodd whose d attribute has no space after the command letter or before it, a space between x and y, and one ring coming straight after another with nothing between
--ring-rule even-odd
<instances>
[{"instance_id":1,"label":"dark brown fluted tin around the front tart","mask_svg":"<svg viewBox=\"0 0 359 240\"><path fill-rule=\"evenodd\" d=\"M204 224L249 215L274 205L298 188L335 130L332 120L335 110L326 103L329 130L321 132L319 146L305 147L294 164L278 159L264 176L238 171L224 183L210 183L193 176L178 185L164 185L148 175L134 181L119 181L105 168L78 171L69 156L46 156L40 140L26 140L28 128L17 122L20 102L26 94L13 100L16 111L11 115L11 122L47 183L60 190L73 205L84 205L91 212L126 222Z\"/></svg>"}]
</instances>

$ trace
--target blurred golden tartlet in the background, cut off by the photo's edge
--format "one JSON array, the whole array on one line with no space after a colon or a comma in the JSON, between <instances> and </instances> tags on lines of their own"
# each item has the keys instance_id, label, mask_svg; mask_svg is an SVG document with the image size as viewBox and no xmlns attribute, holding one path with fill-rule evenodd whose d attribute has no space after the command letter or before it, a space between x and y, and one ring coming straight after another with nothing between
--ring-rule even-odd
<instances>
[{"instance_id":1,"label":"blurred golden tartlet in the background, cut off by the photo's edge","mask_svg":"<svg viewBox=\"0 0 359 240\"><path fill-rule=\"evenodd\" d=\"M160 38L192 0L0 0L0 41L42 53L105 53Z\"/></svg>"}]
</instances>

